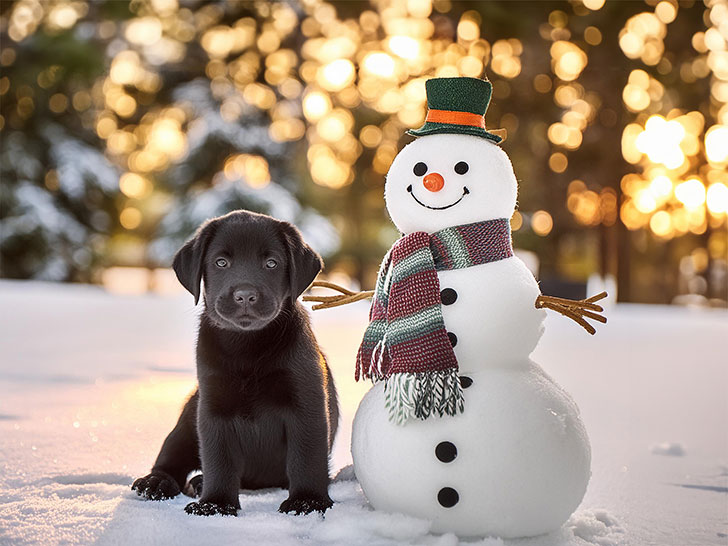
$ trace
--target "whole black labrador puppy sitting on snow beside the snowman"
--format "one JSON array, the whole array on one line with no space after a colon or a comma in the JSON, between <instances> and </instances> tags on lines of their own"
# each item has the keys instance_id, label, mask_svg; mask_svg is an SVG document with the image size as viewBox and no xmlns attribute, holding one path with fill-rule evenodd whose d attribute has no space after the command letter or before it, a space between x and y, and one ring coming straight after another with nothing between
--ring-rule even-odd
<instances>
[{"instance_id":1,"label":"whole black labrador puppy sitting on snow beside the snowman","mask_svg":"<svg viewBox=\"0 0 728 546\"><path fill-rule=\"evenodd\" d=\"M189 514L236 515L239 489L288 488L279 511L331 507L328 457L339 419L331 372L297 302L322 261L291 224L235 211L203 224L174 259L200 296L198 390L132 485L147 499L200 495Z\"/></svg>"}]
</instances>

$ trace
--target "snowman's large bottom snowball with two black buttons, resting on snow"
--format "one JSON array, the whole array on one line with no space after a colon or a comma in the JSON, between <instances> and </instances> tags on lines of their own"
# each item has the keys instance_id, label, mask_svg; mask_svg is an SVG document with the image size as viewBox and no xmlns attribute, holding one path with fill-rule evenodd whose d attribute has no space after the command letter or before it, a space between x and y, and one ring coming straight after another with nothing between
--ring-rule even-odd
<instances>
[{"instance_id":1,"label":"snowman's large bottom snowball with two black buttons, resting on snow","mask_svg":"<svg viewBox=\"0 0 728 546\"><path fill-rule=\"evenodd\" d=\"M461 537L558 529L589 482L589 440L571 397L541 368L469 373L465 412L389 422L384 384L352 432L356 476L372 506L429 519Z\"/></svg>"}]
</instances>

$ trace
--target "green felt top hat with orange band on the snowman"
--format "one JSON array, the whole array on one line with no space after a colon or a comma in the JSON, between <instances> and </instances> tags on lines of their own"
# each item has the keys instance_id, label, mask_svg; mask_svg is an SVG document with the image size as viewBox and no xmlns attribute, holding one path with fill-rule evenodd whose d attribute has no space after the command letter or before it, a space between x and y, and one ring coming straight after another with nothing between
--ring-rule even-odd
<instances>
[{"instance_id":1,"label":"green felt top hat with orange band on the snowman","mask_svg":"<svg viewBox=\"0 0 728 546\"><path fill-rule=\"evenodd\" d=\"M419 129L410 129L412 136L454 133L486 138L495 144L505 138L503 129L485 129L485 111L493 86L479 78L433 78L425 82L427 118Z\"/></svg>"}]
</instances>

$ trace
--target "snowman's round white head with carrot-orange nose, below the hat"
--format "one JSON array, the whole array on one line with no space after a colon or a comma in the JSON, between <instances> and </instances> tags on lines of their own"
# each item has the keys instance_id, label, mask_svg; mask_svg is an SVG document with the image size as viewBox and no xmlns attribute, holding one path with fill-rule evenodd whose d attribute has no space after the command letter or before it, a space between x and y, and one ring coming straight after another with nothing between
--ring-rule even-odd
<instances>
[{"instance_id":1,"label":"snowman's round white head with carrot-orange nose, below the hat","mask_svg":"<svg viewBox=\"0 0 728 546\"><path fill-rule=\"evenodd\" d=\"M496 144L472 135L435 134L419 137L394 158L384 198L406 235L510 218L517 192L511 161Z\"/></svg>"}]
</instances>

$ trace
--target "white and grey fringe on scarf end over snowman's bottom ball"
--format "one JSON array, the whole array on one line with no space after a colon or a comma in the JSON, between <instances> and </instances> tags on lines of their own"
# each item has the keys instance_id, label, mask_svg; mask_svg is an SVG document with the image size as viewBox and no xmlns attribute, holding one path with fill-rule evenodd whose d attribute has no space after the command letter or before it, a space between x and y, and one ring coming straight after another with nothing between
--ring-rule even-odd
<instances>
[{"instance_id":1,"label":"white and grey fringe on scarf end over snowman's bottom ball","mask_svg":"<svg viewBox=\"0 0 728 546\"><path fill-rule=\"evenodd\" d=\"M411 417L457 415L465 408L457 370L397 373L384 379L384 400L389 420L404 425Z\"/></svg>"}]
</instances>

